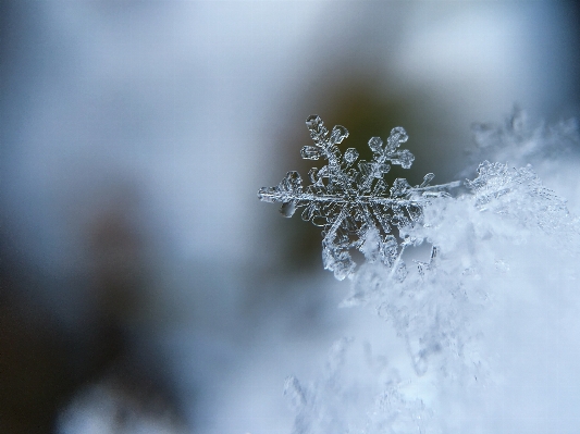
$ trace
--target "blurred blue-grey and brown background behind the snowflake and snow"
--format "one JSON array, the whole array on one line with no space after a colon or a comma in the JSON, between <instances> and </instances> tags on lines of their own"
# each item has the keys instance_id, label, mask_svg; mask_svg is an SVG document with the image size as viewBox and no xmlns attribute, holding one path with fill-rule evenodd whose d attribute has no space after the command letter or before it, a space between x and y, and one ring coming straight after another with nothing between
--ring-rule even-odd
<instances>
[{"instance_id":1,"label":"blurred blue-grey and brown background behind the snowflake and snow","mask_svg":"<svg viewBox=\"0 0 580 434\"><path fill-rule=\"evenodd\" d=\"M312 113L393 178L457 178L473 122L578 116L557 1L0 3L0 432L288 433L356 313L320 231L256 196ZM372 321L372 320L368 320Z\"/></svg>"}]
</instances>

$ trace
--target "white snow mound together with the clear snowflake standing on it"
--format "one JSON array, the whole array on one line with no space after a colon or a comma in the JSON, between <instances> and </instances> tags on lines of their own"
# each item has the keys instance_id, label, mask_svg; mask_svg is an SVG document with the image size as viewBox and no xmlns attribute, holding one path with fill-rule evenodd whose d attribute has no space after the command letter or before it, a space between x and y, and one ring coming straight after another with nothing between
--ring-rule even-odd
<instances>
[{"instance_id":1,"label":"white snow mound together with the clear snowflake standing on it","mask_svg":"<svg viewBox=\"0 0 580 434\"><path fill-rule=\"evenodd\" d=\"M309 120L314 146L303 157L328 164L312 170L306 189L291 172L260 197L281 202L288 216L303 207L305 220L323 226L325 266L340 278L351 276L342 306L370 308L392 330L354 322L358 336L335 344L316 381L287 379L294 434L498 433L521 425L576 432L576 407L559 399L571 381L578 383L573 362L566 376L560 372L562 360L576 357L567 346L577 347L580 220L535 169L550 175L550 156L557 169L563 160L577 161L570 144L578 132L530 132L516 117L508 125L479 140L490 159L498 152L514 161L483 161L452 197L446 191L458 183L431 187L432 175L415 187L405 179L386 185L391 164L412 162L398 149L407 139L403 128L385 146L371 139L374 157L365 162L354 149L340 152L345 128L329 133L317 116ZM554 185L555 174L562 175L553 171L546 185ZM424 262L406 270L402 252L421 243L433 246L431 257L416 251ZM356 272L351 262L341 263L354 248L367 259ZM546 351L538 350L540 340ZM550 402L554 397L557 406ZM530 421L530 408L550 418ZM559 430L550 429L555 420Z\"/></svg>"}]
</instances>

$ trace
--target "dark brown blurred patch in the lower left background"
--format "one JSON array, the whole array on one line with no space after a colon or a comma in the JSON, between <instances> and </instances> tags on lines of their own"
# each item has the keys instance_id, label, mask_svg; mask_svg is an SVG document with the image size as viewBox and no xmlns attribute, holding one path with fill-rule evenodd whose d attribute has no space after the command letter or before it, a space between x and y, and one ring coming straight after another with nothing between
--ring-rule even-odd
<instances>
[{"instance_id":1,"label":"dark brown blurred patch in the lower left background","mask_svg":"<svg viewBox=\"0 0 580 434\"><path fill-rule=\"evenodd\" d=\"M116 190L109 206L92 210L86 226L87 266L81 275L39 272L17 256L22 251L17 245L7 236L2 239L1 432L51 432L74 396L90 395L91 388L99 387L111 389L120 426L139 414L180 419L155 355L144 355L134 345L132 325L139 321L137 317L143 321L141 301L146 299L148 247L127 211L133 198L119 194L123 188ZM70 285L71 290L88 297L90 308L75 330L63 326L53 312L30 299L54 285ZM94 385L88 392L87 384ZM74 410L74 405L70 408Z\"/></svg>"}]
</instances>

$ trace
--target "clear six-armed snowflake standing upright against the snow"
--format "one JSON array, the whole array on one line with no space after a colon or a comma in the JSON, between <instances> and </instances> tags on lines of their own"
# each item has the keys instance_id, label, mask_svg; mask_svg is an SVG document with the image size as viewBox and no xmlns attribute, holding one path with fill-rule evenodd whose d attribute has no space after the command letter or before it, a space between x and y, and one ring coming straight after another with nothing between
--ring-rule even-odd
<instances>
[{"instance_id":1,"label":"clear six-armed snowflake standing upright against the snow","mask_svg":"<svg viewBox=\"0 0 580 434\"><path fill-rule=\"evenodd\" d=\"M349 250L358 249L367 261L382 261L404 278L400 256L415 243L406 237L400 240L393 234L397 230L419 223L423 207L430 197L448 196L445 191L459 182L430 186L434 175L428 173L421 185L411 186L407 179L397 178L388 187L385 174L392 164L409 169L415 160L407 149L399 146L407 141L404 128L391 131L386 144L379 137L369 140L371 161L358 160L358 151L348 148L341 153L338 145L348 137L344 126L335 126L329 133L322 120L313 114L306 121L314 146L305 146L304 159L324 159L328 164L309 172L311 185L303 188L298 172L288 172L275 187L263 187L258 197L267 202L282 202L281 212L292 216L296 209L305 208L303 220L322 230L322 259L324 269L334 272L338 280L353 274L356 263Z\"/></svg>"}]
</instances>

